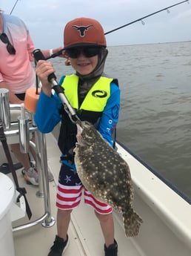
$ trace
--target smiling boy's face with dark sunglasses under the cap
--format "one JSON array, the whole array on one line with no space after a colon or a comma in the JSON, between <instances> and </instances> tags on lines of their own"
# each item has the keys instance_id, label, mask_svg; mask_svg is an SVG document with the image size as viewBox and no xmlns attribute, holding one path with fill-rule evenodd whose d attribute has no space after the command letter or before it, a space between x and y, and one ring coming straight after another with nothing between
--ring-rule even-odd
<instances>
[{"instance_id":1,"label":"smiling boy's face with dark sunglasses under the cap","mask_svg":"<svg viewBox=\"0 0 191 256\"><path fill-rule=\"evenodd\" d=\"M66 51L66 54L68 53L70 64L78 73L81 75L88 75L98 64L99 52L100 48L98 47L81 47L68 50Z\"/></svg>"}]
</instances>

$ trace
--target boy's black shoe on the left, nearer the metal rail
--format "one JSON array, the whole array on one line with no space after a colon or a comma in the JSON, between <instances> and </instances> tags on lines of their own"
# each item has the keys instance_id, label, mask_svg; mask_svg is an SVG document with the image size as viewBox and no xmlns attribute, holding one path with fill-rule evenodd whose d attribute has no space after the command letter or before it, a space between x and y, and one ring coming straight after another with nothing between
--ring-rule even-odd
<instances>
[{"instance_id":1,"label":"boy's black shoe on the left, nearer the metal rail","mask_svg":"<svg viewBox=\"0 0 191 256\"><path fill-rule=\"evenodd\" d=\"M67 246L68 246L68 236L67 236L67 240L64 241L63 238L58 237L58 235L56 235L54 244L50 248L50 252L47 256L61 256L62 253L65 251L65 249L67 249Z\"/></svg>"}]
</instances>

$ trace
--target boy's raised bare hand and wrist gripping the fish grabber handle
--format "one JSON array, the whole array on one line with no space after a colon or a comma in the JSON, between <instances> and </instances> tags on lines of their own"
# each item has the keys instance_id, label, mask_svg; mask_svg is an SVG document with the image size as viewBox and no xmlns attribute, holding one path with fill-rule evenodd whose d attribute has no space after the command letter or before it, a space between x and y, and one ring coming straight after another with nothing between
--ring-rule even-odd
<instances>
[{"instance_id":1,"label":"boy's raised bare hand and wrist gripping the fish grabber handle","mask_svg":"<svg viewBox=\"0 0 191 256\"><path fill-rule=\"evenodd\" d=\"M51 62L45 60L39 60L36 65L36 74L41 81L42 91L47 95L51 96L52 84L48 81L50 73L54 73L55 69Z\"/></svg>"}]
</instances>

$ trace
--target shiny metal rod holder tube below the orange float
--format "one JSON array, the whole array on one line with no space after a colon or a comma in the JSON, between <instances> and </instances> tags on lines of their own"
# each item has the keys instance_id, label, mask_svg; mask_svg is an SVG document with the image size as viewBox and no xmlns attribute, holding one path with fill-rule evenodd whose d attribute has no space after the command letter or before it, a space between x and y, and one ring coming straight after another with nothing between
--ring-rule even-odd
<instances>
[{"instance_id":1,"label":"shiny metal rod holder tube below the orange float","mask_svg":"<svg viewBox=\"0 0 191 256\"><path fill-rule=\"evenodd\" d=\"M21 104L21 116L18 116L19 142L21 153L28 153L30 146L29 116L25 114L24 104Z\"/></svg>"}]
</instances>

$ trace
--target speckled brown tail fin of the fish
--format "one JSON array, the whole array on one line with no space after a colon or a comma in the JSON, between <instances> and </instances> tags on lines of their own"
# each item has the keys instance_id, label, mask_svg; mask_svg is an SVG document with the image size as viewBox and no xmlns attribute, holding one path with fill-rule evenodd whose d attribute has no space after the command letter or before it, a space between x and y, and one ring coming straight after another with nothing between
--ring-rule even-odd
<instances>
[{"instance_id":1,"label":"speckled brown tail fin of the fish","mask_svg":"<svg viewBox=\"0 0 191 256\"><path fill-rule=\"evenodd\" d=\"M133 209L128 209L123 211L123 218L126 236L135 237L138 235L141 223L143 223L141 217Z\"/></svg>"}]
</instances>

